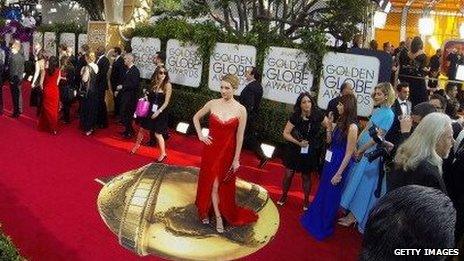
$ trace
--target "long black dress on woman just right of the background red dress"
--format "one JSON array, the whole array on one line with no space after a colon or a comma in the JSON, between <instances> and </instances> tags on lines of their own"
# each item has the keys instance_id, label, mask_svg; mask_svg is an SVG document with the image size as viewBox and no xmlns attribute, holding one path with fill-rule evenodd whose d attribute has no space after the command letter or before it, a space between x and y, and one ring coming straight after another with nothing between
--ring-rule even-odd
<instances>
[{"instance_id":1,"label":"long black dress on woman just right of the background red dress","mask_svg":"<svg viewBox=\"0 0 464 261\"><path fill-rule=\"evenodd\" d=\"M92 130L97 123L98 114L98 93L96 88L97 74L92 67L89 66L89 81L82 83L82 107L80 114L80 123L82 129L87 132Z\"/></svg>"}]
</instances>

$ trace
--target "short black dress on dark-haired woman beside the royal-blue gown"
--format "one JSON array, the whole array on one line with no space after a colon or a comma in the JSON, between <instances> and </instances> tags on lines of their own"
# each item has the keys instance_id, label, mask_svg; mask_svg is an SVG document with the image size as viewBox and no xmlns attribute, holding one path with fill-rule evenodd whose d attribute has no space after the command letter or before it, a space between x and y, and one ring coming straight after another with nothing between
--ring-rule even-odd
<instances>
[{"instance_id":1,"label":"short black dress on dark-haired woman beside the royal-blue gown","mask_svg":"<svg viewBox=\"0 0 464 261\"><path fill-rule=\"evenodd\" d=\"M288 142L283 157L284 165L287 169L309 174L317 170L317 136L321 130L322 115L313 112L309 119L304 119L301 115L293 113L289 122L295 126L292 130L292 136L301 141L309 141L308 153L301 153L301 147Z\"/></svg>"}]
</instances>

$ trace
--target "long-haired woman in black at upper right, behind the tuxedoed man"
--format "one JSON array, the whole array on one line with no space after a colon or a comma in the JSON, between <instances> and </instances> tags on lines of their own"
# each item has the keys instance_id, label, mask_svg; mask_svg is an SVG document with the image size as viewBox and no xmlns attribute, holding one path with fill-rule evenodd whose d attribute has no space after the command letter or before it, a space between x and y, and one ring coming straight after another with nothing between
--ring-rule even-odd
<instances>
[{"instance_id":1,"label":"long-haired woman in black at upper right, behind the tuxedoed man","mask_svg":"<svg viewBox=\"0 0 464 261\"><path fill-rule=\"evenodd\" d=\"M409 83L410 95L409 100L412 106L428 100L427 87L425 85L425 75L428 74L427 56L424 53L424 43L418 36L414 37L411 42L411 49L408 53L409 61L403 64L405 74L402 79Z\"/></svg>"}]
</instances>

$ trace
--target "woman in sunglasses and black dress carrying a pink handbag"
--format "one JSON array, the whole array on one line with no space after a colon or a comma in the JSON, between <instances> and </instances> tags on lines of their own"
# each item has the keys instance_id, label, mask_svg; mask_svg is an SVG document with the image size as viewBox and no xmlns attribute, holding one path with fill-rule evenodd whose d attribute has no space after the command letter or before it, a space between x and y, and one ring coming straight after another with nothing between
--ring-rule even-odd
<instances>
[{"instance_id":1,"label":"woman in sunglasses and black dress carrying a pink handbag","mask_svg":"<svg viewBox=\"0 0 464 261\"><path fill-rule=\"evenodd\" d=\"M158 65L151 79L151 89L147 93L150 102L150 111L147 117L140 120L140 129L137 140L131 153L134 154L142 143L144 130L153 131L160 147L160 155L156 162L163 162L168 154L163 135L168 134L168 114L166 108L171 100L172 86L169 74L164 65Z\"/></svg>"}]
</instances>

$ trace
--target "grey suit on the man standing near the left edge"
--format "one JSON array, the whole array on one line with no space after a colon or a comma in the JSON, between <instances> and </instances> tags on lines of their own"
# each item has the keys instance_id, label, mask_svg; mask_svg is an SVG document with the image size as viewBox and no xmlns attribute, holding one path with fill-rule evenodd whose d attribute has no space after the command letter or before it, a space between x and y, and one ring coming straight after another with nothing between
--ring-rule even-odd
<instances>
[{"instance_id":1,"label":"grey suit on the man standing near the left edge","mask_svg":"<svg viewBox=\"0 0 464 261\"><path fill-rule=\"evenodd\" d=\"M21 81L24 74L24 56L21 53L11 53L9 60L10 90L13 99L13 115L17 116L22 112Z\"/></svg>"}]
</instances>

